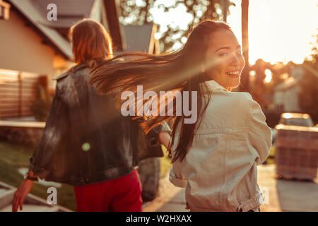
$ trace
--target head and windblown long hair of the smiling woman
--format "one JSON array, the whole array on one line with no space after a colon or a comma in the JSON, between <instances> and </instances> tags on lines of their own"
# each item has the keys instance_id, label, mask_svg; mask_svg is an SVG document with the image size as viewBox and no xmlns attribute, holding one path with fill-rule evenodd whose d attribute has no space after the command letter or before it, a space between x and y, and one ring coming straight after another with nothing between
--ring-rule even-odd
<instances>
[{"instance_id":1,"label":"head and windblown long hair of the smiling woman","mask_svg":"<svg viewBox=\"0 0 318 226\"><path fill-rule=\"evenodd\" d=\"M220 32L220 33L219 33ZM225 35L225 37L223 37ZM224 40L224 41L222 41ZM159 56L140 52L128 52L119 54L117 57L105 61L93 70L90 83L94 84L99 93L106 94L119 88L118 100L121 100L123 91L137 93L138 85L143 85L143 92L154 90L163 92L165 90L182 90L189 92L189 100L192 100L192 92L197 92L196 107L205 109L211 97L208 85L204 81L216 80L226 88L235 88L239 84L237 78L228 76L227 71L241 71L244 66L242 56L237 53L237 40L230 26L226 23L203 20L196 25L190 33L187 42L182 48L175 52L168 52ZM219 48L227 49L229 57L220 57ZM235 57L233 57L235 49ZM224 50L224 49L223 49ZM116 61L116 59L126 61ZM240 59L237 61L237 59ZM241 63L240 63L241 62ZM243 62L243 64L242 64ZM237 70L239 69L239 70ZM234 80L231 81L231 80ZM182 98L184 99L184 98ZM169 97L168 97L169 100ZM175 100L175 97L172 98ZM169 103L166 104L167 107ZM191 102L189 102L191 105ZM204 110L199 112L194 124L185 124L183 119L191 116L177 115L177 107L173 107L173 114L165 114L153 117L152 120L142 122L146 131L154 126L175 119L172 131L172 144L175 141L175 129L182 125L181 139L177 146L176 157L173 161L183 159L187 149L191 146L194 133L199 126L199 119ZM138 116L139 114L136 113ZM143 116L136 117L142 118ZM146 117L143 117L146 119ZM182 123L183 122L183 123Z\"/></svg>"}]
</instances>

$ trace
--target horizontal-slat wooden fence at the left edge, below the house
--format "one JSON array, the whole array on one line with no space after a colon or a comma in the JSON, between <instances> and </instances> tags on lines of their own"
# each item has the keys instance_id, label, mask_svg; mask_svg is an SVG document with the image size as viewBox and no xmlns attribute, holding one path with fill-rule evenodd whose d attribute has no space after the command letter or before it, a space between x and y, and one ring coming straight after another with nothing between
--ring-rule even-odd
<instances>
[{"instance_id":1,"label":"horizontal-slat wooden fence at the left edge, below the house","mask_svg":"<svg viewBox=\"0 0 318 226\"><path fill-rule=\"evenodd\" d=\"M0 118L32 116L40 75L0 69Z\"/></svg>"}]
</instances>

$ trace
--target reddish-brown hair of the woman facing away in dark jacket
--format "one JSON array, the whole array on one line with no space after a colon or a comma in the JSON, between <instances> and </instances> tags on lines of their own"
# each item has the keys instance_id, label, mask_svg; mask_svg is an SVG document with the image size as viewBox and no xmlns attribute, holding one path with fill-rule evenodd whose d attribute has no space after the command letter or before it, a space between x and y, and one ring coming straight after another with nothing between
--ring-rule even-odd
<instances>
[{"instance_id":1,"label":"reddish-brown hair of the woman facing away in dark jacket","mask_svg":"<svg viewBox=\"0 0 318 226\"><path fill-rule=\"evenodd\" d=\"M90 68L112 57L112 38L101 23L93 19L78 21L69 30L75 64L86 63Z\"/></svg>"}]
</instances>

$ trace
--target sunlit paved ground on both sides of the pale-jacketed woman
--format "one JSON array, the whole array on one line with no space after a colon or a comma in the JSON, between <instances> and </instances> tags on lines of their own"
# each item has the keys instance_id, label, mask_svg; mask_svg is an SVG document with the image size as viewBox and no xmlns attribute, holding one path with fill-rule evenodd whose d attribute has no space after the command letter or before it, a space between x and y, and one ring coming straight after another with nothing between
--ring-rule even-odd
<instances>
[{"instance_id":1,"label":"sunlit paved ground on both sides of the pale-jacketed woman","mask_svg":"<svg viewBox=\"0 0 318 226\"><path fill-rule=\"evenodd\" d=\"M258 183L264 194L262 212L318 211L318 178L314 182L276 179L275 165L258 166ZM184 189L160 181L160 195L143 206L144 212L187 212Z\"/></svg>"}]
</instances>

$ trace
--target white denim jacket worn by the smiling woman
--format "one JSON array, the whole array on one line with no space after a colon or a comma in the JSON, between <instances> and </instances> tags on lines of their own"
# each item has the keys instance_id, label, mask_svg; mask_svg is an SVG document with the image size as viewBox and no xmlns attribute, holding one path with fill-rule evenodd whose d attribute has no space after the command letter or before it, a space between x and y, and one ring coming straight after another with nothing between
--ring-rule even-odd
<instances>
[{"instance_id":1,"label":"white denim jacket worn by the smiling woman","mask_svg":"<svg viewBox=\"0 0 318 226\"><path fill-rule=\"evenodd\" d=\"M211 100L186 157L172 164L170 182L186 188L191 211L256 210L263 203L257 165L269 155L271 129L249 93L205 83ZM172 150L178 134L179 129Z\"/></svg>"}]
</instances>

